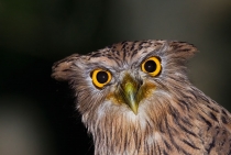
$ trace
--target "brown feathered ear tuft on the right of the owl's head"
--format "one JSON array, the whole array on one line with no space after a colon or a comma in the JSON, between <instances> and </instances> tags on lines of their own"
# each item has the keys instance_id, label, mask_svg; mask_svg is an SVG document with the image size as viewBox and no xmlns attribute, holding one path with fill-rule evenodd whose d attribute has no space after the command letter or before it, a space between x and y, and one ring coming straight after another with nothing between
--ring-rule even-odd
<instances>
[{"instance_id":1,"label":"brown feathered ear tuft on the right of the owl's head","mask_svg":"<svg viewBox=\"0 0 231 155\"><path fill-rule=\"evenodd\" d=\"M195 55L198 49L189 43L186 42L169 42L169 54L174 54L176 57L182 57L185 59L190 58Z\"/></svg>"}]
</instances>

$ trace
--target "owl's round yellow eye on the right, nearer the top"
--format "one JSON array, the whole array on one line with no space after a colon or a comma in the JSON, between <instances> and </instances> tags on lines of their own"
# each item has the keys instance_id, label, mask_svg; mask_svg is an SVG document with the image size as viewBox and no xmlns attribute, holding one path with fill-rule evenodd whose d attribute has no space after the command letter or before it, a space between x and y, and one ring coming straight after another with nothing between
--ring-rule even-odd
<instances>
[{"instance_id":1,"label":"owl's round yellow eye on the right, nearer the top","mask_svg":"<svg viewBox=\"0 0 231 155\"><path fill-rule=\"evenodd\" d=\"M142 71L151 75L157 76L162 70L161 60L157 57L150 57L141 64Z\"/></svg>"}]
</instances>

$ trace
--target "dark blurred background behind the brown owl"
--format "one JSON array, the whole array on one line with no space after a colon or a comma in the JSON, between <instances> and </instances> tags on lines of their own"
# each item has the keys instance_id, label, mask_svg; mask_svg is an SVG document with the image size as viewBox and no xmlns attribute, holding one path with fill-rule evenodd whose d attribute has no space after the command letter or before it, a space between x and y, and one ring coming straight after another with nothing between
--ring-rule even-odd
<instances>
[{"instance_id":1,"label":"dark blurred background behind the brown owl","mask_svg":"<svg viewBox=\"0 0 231 155\"><path fill-rule=\"evenodd\" d=\"M121 41L195 44L191 81L231 110L230 0L0 0L0 154L92 154L54 62Z\"/></svg>"}]
</instances>

